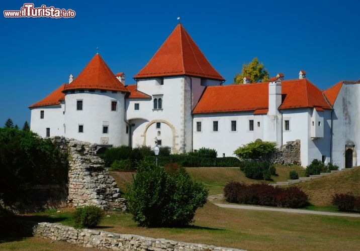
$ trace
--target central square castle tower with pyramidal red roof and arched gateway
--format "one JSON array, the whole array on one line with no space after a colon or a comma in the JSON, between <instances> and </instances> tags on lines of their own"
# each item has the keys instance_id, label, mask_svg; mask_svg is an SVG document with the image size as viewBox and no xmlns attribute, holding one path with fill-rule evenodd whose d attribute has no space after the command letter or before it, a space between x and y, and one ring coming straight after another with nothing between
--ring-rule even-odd
<instances>
[{"instance_id":1,"label":"central square castle tower with pyramidal red roof and arched gateway","mask_svg":"<svg viewBox=\"0 0 360 251\"><path fill-rule=\"evenodd\" d=\"M127 119L134 124L133 146L154 146L156 138L174 153L192 151L192 110L206 86L220 85L224 78L181 24L134 78L136 89L149 95L151 107L141 111L141 100L129 100ZM133 102L140 102L140 111L131 109Z\"/></svg>"}]
</instances>

